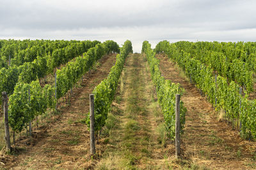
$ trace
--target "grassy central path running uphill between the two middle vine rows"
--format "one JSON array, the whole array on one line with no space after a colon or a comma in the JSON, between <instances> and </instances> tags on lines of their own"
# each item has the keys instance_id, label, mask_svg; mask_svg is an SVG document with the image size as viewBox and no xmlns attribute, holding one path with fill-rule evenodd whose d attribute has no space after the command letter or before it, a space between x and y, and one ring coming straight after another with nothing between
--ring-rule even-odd
<instances>
[{"instance_id":1,"label":"grassy central path running uphill between the two middle vine rows","mask_svg":"<svg viewBox=\"0 0 256 170\"><path fill-rule=\"evenodd\" d=\"M164 155L170 152L159 135L163 115L146 65L140 54L127 59L108 118L114 126L104 130L109 132L108 145L95 169L167 168Z\"/></svg>"}]
</instances>

